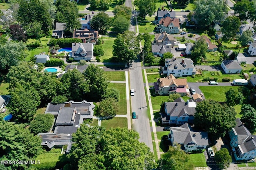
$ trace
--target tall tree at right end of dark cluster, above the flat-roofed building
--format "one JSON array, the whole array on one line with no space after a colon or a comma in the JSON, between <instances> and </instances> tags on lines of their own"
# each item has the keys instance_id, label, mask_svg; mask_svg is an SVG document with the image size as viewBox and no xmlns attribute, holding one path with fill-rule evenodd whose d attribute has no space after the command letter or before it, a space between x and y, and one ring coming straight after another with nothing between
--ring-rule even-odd
<instances>
[{"instance_id":1,"label":"tall tree at right end of dark cluster, above the flat-roofed building","mask_svg":"<svg viewBox=\"0 0 256 170\"><path fill-rule=\"evenodd\" d=\"M101 100L108 88L108 81L104 70L94 64L90 64L84 71L84 77L90 89L87 96L94 100Z\"/></svg>"}]
</instances>

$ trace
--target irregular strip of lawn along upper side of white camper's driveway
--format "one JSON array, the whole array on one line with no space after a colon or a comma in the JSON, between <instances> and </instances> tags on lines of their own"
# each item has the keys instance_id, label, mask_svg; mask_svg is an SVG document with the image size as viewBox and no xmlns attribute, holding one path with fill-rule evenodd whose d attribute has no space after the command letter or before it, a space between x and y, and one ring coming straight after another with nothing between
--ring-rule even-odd
<instances>
[{"instance_id":1,"label":"irregular strip of lawn along upper side of white camper's driveway","mask_svg":"<svg viewBox=\"0 0 256 170\"><path fill-rule=\"evenodd\" d=\"M217 82L222 82L222 78L224 77L230 77L230 81L241 78L238 74L223 74L221 71L203 71L202 75L196 74L196 77L192 76L187 76L187 77L181 77L181 78L186 78L187 82L202 82L204 78L207 77L214 77L218 78Z\"/></svg>"}]
</instances>

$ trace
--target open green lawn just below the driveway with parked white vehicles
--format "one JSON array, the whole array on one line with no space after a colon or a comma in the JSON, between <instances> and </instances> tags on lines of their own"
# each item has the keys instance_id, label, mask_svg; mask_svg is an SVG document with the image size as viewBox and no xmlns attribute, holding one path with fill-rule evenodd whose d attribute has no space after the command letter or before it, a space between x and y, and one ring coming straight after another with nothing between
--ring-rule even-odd
<instances>
[{"instance_id":1,"label":"open green lawn just below the driveway with parked white vehicles","mask_svg":"<svg viewBox=\"0 0 256 170\"><path fill-rule=\"evenodd\" d=\"M199 86L206 99L213 99L218 102L225 102L225 92L230 88L238 89L239 86Z\"/></svg>"}]
</instances>

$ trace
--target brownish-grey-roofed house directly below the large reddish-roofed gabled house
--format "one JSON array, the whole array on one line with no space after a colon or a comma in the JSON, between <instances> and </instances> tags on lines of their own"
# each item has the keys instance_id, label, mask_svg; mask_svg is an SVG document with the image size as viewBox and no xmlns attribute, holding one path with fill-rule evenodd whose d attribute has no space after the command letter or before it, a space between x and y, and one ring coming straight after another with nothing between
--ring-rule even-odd
<instances>
[{"instance_id":1,"label":"brownish-grey-roofed house directly below the large reddish-roofed gabled house","mask_svg":"<svg viewBox=\"0 0 256 170\"><path fill-rule=\"evenodd\" d=\"M175 39L172 35L166 33L166 31L162 33L155 33L154 41L152 42L153 45L167 45L172 44L171 47L174 46Z\"/></svg>"}]
</instances>

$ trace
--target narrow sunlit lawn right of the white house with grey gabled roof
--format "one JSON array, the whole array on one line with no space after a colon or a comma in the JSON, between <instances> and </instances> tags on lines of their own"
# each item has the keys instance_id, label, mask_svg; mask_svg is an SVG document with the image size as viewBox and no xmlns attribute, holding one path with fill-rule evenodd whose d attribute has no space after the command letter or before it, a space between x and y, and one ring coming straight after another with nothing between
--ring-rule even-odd
<instances>
[{"instance_id":1,"label":"narrow sunlit lawn right of the white house with grey gabled roof","mask_svg":"<svg viewBox=\"0 0 256 170\"><path fill-rule=\"evenodd\" d=\"M104 56L100 57L101 62L109 62L109 59L113 57L112 55L112 49L114 45L114 39L102 39L104 43L102 44L102 47L104 49Z\"/></svg>"}]
</instances>

